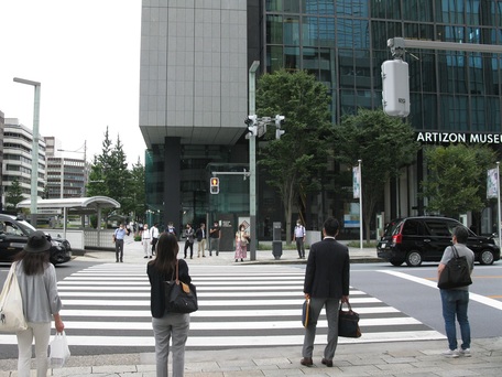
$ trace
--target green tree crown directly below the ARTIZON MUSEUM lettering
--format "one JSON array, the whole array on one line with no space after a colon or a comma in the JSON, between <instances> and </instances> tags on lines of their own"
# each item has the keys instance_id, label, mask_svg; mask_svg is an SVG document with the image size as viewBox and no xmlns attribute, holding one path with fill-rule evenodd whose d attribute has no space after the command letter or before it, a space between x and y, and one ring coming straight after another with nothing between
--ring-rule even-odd
<instances>
[{"instance_id":1,"label":"green tree crown directly below the ARTIZON MUSEUM lettering","mask_svg":"<svg viewBox=\"0 0 502 377\"><path fill-rule=\"evenodd\" d=\"M495 152L484 146L426 148L428 174L422 187L427 211L455 218L481 211L487 203L487 170L495 161Z\"/></svg>"}]
</instances>

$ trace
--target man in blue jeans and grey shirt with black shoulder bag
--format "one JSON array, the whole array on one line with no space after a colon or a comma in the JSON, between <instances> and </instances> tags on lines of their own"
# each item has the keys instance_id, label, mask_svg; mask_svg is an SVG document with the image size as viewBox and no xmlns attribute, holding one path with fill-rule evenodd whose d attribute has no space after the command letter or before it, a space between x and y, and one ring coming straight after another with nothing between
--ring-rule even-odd
<instances>
[{"instance_id":1,"label":"man in blue jeans and grey shirt with black shoulder bag","mask_svg":"<svg viewBox=\"0 0 502 377\"><path fill-rule=\"evenodd\" d=\"M437 268L437 279L445 270L448 261L454 258L454 247L457 249L459 257L466 257L470 271L474 268L474 254L469 249L466 244L469 237L469 233L466 227L457 226L454 228L451 241L454 246L448 246ZM440 289L441 305L443 305L443 317L445 320L445 331L448 337L448 349L443 353L446 357L459 357L470 356L470 324L467 315L469 306L469 286L459 287L454 289ZM460 349L457 348L457 327L455 323L457 317L458 324L460 325L460 335L462 344Z\"/></svg>"}]
</instances>

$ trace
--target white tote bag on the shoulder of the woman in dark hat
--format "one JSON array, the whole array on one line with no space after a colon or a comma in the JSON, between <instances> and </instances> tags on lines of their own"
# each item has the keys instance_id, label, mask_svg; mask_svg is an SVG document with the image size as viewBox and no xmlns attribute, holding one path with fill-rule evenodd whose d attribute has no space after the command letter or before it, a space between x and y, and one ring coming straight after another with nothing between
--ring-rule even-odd
<instances>
[{"instance_id":1,"label":"white tote bag on the shoulder of the woman in dark hat","mask_svg":"<svg viewBox=\"0 0 502 377\"><path fill-rule=\"evenodd\" d=\"M28 328L23 312L23 299L15 276L15 262L12 263L0 293L0 332L3 333L15 333Z\"/></svg>"}]
</instances>

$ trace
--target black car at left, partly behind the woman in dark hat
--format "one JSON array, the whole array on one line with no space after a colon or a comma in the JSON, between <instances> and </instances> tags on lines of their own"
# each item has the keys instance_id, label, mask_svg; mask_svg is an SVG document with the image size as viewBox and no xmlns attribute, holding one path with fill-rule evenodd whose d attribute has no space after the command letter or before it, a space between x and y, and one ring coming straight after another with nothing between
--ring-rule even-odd
<instances>
[{"instance_id":1,"label":"black car at left, partly behind the woman in dark hat","mask_svg":"<svg viewBox=\"0 0 502 377\"><path fill-rule=\"evenodd\" d=\"M28 237L36 229L21 217L0 214L0 261L12 261L28 243ZM52 238L51 262L53 265L66 263L72 259L72 247L66 239Z\"/></svg>"}]
</instances>

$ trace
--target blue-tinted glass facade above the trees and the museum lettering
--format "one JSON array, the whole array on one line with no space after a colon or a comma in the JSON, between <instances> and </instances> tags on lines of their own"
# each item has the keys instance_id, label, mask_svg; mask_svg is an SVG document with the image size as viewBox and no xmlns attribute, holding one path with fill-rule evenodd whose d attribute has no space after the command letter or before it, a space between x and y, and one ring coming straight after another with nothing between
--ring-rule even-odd
<instances>
[{"instance_id":1,"label":"blue-tinted glass facade above the trees and the museum lettering","mask_svg":"<svg viewBox=\"0 0 502 377\"><path fill-rule=\"evenodd\" d=\"M380 66L394 36L501 44L500 1L266 1L266 72L306 69L332 93L334 121L381 107ZM417 130L498 131L501 56L411 50Z\"/></svg>"}]
</instances>

